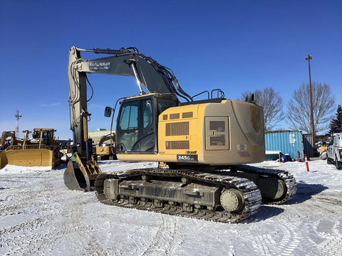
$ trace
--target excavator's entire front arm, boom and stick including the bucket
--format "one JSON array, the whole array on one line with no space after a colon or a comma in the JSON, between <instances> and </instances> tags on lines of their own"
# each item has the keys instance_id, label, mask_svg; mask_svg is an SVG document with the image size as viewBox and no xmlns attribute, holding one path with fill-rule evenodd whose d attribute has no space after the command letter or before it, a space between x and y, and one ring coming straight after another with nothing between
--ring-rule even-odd
<instances>
[{"instance_id":1,"label":"excavator's entire front arm, boom and stick including the bucket","mask_svg":"<svg viewBox=\"0 0 342 256\"><path fill-rule=\"evenodd\" d=\"M81 57L81 52L100 53L109 56L85 60ZM71 130L73 131L74 146L72 151L74 157L68 163L64 181L70 189L89 191L92 186L92 179L88 180L88 178L95 177L95 174L101 171L92 157L91 140L88 139L88 118L90 114L87 110L88 78L86 73L133 77L138 83L140 95L144 95L146 90L147 93L158 92L163 95L177 95L187 102L191 102L192 97L182 90L170 68L166 68L152 58L143 55L137 48L112 50L81 49L73 46L69 50L68 59L68 102ZM86 178L84 182L83 176ZM79 184L81 183L85 185L80 187Z\"/></svg>"}]
</instances>

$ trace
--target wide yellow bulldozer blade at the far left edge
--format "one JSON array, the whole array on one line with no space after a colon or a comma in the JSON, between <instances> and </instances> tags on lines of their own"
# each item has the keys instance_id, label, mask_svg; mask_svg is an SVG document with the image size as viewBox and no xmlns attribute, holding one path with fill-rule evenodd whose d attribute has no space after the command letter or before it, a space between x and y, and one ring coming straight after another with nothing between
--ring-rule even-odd
<instances>
[{"instance_id":1,"label":"wide yellow bulldozer blade at the far left edge","mask_svg":"<svg viewBox=\"0 0 342 256\"><path fill-rule=\"evenodd\" d=\"M58 165L58 159L49 149L9 149L1 151L0 167L6 164L16 166L50 166Z\"/></svg>"}]
</instances>

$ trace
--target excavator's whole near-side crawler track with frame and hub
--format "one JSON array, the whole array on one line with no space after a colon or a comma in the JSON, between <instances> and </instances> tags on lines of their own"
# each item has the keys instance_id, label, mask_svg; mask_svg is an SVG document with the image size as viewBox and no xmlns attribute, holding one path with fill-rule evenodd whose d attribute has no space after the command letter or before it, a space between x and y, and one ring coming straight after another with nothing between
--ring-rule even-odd
<instances>
[{"instance_id":1,"label":"excavator's whole near-side crawler track with frame and hub","mask_svg":"<svg viewBox=\"0 0 342 256\"><path fill-rule=\"evenodd\" d=\"M261 205L253 181L219 171L133 169L99 174L95 191L108 205L222 223L244 220Z\"/></svg>"}]
</instances>

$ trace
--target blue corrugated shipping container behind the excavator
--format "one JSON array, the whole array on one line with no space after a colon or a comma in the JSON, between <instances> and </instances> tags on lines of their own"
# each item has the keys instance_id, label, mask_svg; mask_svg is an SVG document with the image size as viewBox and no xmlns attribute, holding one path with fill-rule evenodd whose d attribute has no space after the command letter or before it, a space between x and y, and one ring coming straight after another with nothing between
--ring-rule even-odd
<instances>
[{"instance_id":1,"label":"blue corrugated shipping container behind the excavator","mask_svg":"<svg viewBox=\"0 0 342 256\"><path fill-rule=\"evenodd\" d=\"M265 133L265 150L281 151L294 159L304 159L303 134L298 131L276 131Z\"/></svg>"}]
</instances>

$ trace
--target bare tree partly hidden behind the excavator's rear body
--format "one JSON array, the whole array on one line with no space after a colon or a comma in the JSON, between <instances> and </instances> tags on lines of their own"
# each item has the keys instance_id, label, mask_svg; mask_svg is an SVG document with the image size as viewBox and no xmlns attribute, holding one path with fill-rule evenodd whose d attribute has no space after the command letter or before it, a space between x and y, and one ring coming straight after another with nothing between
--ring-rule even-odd
<instances>
[{"instance_id":1,"label":"bare tree partly hidden behind the excavator's rear body","mask_svg":"<svg viewBox=\"0 0 342 256\"><path fill-rule=\"evenodd\" d=\"M279 92L275 92L272 87L266 87L264 90L242 92L242 100L250 97L252 93L254 93L254 100L257 105L264 108L264 125L267 132L284 119L284 112L282 111L283 99Z\"/></svg>"}]
</instances>

